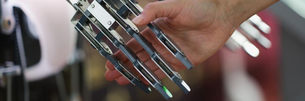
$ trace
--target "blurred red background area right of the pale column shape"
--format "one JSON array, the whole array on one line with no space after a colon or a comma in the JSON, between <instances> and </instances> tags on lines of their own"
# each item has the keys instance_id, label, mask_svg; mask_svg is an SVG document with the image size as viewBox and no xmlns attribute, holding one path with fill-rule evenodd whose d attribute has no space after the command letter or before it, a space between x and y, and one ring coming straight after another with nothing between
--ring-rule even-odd
<instances>
[{"instance_id":1,"label":"blurred red background area right of the pale column shape","mask_svg":"<svg viewBox=\"0 0 305 101\"><path fill-rule=\"evenodd\" d=\"M257 15L271 27L271 33L264 34L264 36L271 41L272 46L270 49L265 49L259 43L252 41L260 50L260 55L256 58L247 55L247 70L259 82L266 101L280 101L280 25L276 17L268 10Z\"/></svg>"}]
</instances>

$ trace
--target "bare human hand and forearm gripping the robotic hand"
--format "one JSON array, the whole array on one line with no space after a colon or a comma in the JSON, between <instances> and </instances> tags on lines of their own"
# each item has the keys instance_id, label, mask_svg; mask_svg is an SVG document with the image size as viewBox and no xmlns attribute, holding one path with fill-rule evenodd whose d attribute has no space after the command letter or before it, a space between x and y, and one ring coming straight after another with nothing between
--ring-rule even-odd
<instances>
[{"instance_id":1,"label":"bare human hand and forearm gripping the robotic hand","mask_svg":"<svg viewBox=\"0 0 305 101\"><path fill-rule=\"evenodd\" d=\"M160 28L180 46L188 59L196 66L217 52L242 22L277 1L165 0L147 4L142 14L132 21L136 25L142 26L156 19L155 22ZM186 69L159 42L149 28L143 30L141 34L177 71ZM159 78L166 76L135 39L131 39L127 45ZM133 67L121 51L116 52L115 56L128 67ZM130 83L114 69L113 64L109 61L106 63L106 69L107 80L116 80L120 85ZM132 69L136 72L135 68ZM144 79L142 78L142 80Z\"/></svg>"}]
</instances>

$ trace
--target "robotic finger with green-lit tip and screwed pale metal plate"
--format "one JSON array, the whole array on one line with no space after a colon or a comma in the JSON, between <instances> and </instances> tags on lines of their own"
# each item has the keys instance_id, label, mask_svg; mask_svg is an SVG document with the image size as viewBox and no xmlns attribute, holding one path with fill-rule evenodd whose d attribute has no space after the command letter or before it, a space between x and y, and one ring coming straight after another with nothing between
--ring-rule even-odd
<instances>
[{"instance_id":1,"label":"robotic finger with green-lit tip and screwed pale metal plate","mask_svg":"<svg viewBox=\"0 0 305 101\"><path fill-rule=\"evenodd\" d=\"M79 28L78 26L84 24L84 22L91 22L92 25L99 29L99 33L94 39L95 41L105 41L106 39L109 39L113 45L119 48L125 54L125 56L127 56L138 72L149 82L149 84L151 84L151 86L157 89L161 95L165 97L165 99L170 99L172 97L171 93L166 89L156 74L152 72L142 61L140 61L138 56L127 45L125 45L123 38L114 30L118 27L116 19L114 19L99 2L94 0L91 4L89 4L88 1L83 0L79 1L77 4L74 4L74 6L78 9L78 13L82 15L79 19L79 23L76 24L77 28ZM87 24L87 26L88 27L86 27L86 29L92 29L90 23ZM106 38L103 36L106 36ZM92 42L92 44L94 44L94 42ZM109 56L105 57L108 58ZM109 60L116 62L115 59L111 59L113 58L110 58ZM118 64L120 64L120 62L118 62ZM126 77L128 78L129 76Z\"/></svg>"}]
</instances>

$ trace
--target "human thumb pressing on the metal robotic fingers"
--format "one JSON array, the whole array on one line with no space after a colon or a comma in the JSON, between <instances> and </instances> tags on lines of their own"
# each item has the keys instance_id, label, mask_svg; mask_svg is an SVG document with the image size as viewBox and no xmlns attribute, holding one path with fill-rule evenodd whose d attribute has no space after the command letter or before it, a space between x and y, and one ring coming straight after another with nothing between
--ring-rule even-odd
<instances>
[{"instance_id":1,"label":"human thumb pressing on the metal robotic fingers","mask_svg":"<svg viewBox=\"0 0 305 101\"><path fill-rule=\"evenodd\" d=\"M165 0L160 2L148 3L143 12L132 19L135 25L147 25L156 18L174 18L182 10L183 5L178 0Z\"/></svg>"}]
</instances>

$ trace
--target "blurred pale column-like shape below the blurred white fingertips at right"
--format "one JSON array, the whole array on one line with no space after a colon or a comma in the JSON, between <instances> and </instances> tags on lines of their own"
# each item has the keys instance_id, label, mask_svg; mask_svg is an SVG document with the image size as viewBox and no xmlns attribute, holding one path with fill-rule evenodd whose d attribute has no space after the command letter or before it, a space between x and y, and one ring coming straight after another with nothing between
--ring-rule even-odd
<instances>
[{"instance_id":1,"label":"blurred pale column-like shape below the blurred white fingertips at right","mask_svg":"<svg viewBox=\"0 0 305 101\"><path fill-rule=\"evenodd\" d=\"M246 57L242 49L236 52L221 49L220 52L224 90L228 101L264 101L262 88L246 71Z\"/></svg>"}]
</instances>

